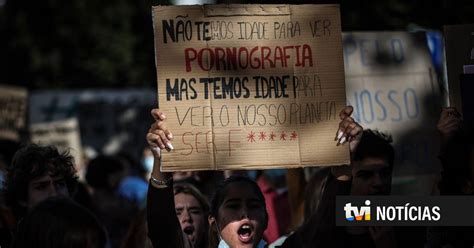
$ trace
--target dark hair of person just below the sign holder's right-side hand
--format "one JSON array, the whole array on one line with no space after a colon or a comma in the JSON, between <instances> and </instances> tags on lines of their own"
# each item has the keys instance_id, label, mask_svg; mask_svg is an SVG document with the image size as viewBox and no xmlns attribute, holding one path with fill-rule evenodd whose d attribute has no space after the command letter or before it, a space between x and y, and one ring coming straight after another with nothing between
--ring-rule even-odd
<instances>
[{"instance_id":1,"label":"dark hair of person just below the sign holder's right-side hand","mask_svg":"<svg viewBox=\"0 0 474 248\"><path fill-rule=\"evenodd\" d=\"M352 154L352 160L362 161L367 157L384 158L390 167L393 167L395 151L391 143L391 136L376 130L365 129L354 154Z\"/></svg>"}]
</instances>

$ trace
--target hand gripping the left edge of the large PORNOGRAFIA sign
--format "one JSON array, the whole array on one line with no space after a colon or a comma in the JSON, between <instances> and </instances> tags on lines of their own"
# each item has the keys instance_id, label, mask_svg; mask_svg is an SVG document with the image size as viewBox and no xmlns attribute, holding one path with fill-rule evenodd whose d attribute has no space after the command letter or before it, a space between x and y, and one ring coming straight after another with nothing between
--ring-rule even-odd
<instances>
[{"instance_id":1,"label":"hand gripping the left edge of the large PORNOGRAFIA sign","mask_svg":"<svg viewBox=\"0 0 474 248\"><path fill-rule=\"evenodd\" d=\"M173 145L171 144L173 134L165 125L166 116L163 112L159 109L153 109L151 115L155 119L155 122L151 125L150 129L148 129L146 140L153 155L159 158L161 150L173 150Z\"/></svg>"}]
</instances>

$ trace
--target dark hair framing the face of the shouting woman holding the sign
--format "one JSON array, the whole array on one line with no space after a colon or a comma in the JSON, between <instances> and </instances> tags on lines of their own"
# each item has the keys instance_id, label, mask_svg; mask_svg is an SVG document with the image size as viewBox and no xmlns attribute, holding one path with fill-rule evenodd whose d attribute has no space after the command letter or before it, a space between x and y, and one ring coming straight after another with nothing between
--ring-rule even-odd
<instances>
[{"instance_id":1,"label":"dark hair framing the face of the shouting woman holding the sign","mask_svg":"<svg viewBox=\"0 0 474 248\"><path fill-rule=\"evenodd\" d=\"M265 197L263 196L260 187L258 187L258 184L254 180L245 176L231 176L217 185L214 195L211 199L211 210L209 212L209 215L217 219L219 207L224 201L224 198L227 194L228 186L233 183L247 183L252 187L253 192L264 206L266 216L265 219L266 221L268 221L267 205L265 203ZM264 224L264 228L266 228L267 223ZM217 230L215 226L216 225L212 225L211 230L209 231L209 247L217 247L219 243L219 241L217 240Z\"/></svg>"}]
</instances>

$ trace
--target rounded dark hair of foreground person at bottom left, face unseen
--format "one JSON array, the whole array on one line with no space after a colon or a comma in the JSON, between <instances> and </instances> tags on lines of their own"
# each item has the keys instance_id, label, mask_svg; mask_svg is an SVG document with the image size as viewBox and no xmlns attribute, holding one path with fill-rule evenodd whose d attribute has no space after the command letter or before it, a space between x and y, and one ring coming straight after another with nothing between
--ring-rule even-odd
<instances>
[{"instance_id":1,"label":"rounded dark hair of foreground person at bottom left, face unseen","mask_svg":"<svg viewBox=\"0 0 474 248\"><path fill-rule=\"evenodd\" d=\"M106 244L106 232L91 212L68 198L52 197L20 222L12 247L103 248Z\"/></svg>"}]
</instances>

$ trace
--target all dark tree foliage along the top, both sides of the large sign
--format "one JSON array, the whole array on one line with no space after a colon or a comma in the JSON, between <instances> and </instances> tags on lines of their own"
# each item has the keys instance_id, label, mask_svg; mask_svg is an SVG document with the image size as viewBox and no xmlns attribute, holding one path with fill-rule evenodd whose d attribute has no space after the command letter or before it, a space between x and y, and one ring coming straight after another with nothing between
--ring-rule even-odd
<instances>
[{"instance_id":1,"label":"all dark tree foliage along the top, both sides of the large sign","mask_svg":"<svg viewBox=\"0 0 474 248\"><path fill-rule=\"evenodd\" d=\"M472 0L220 0L218 3L339 3L342 28L441 29L474 22ZM7 0L0 7L0 83L29 88L152 86L151 6L158 0Z\"/></svg>"}]
</instances>

